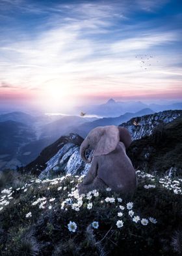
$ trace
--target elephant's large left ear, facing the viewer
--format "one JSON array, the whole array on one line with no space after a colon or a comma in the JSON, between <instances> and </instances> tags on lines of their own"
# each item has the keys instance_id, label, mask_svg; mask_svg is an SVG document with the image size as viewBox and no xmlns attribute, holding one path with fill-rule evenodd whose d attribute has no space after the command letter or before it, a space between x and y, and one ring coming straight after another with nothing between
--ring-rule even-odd
<instances>
[{"instance_id":1,"label":"elephant's large left ear, facing the viewer","mask_svg":"<svg viewBox=\"0 0 182 256\"><path fill-rule=\"evenodd\" d=\"M107 155L116 149L118 142L120 141L120 133L118 127L109 125L103 127L101 130L101 136L99 142L94 150L94 155Z\"/></svg>"}]
</instances>

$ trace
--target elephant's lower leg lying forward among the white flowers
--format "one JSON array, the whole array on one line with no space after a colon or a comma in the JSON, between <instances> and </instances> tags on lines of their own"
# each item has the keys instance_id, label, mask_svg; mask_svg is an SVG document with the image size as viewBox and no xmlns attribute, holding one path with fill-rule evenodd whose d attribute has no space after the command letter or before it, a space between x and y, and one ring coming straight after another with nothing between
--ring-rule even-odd
<instances>
[{"instance_id":1,"label":"elephant's lower leg lying forward among the white flowers","mask_svg":"<svg viewBox=\"0 0 182 256\"><path fill-rule=\"evenodd\" d=\"M97 190L104 190L106 189L108 186L99 178L95 178L94 181L91 184L85 185L83 183L79 184L79 194L86 194L89 191L92 191L94 189Z\"/></svg>"}]
</instances>

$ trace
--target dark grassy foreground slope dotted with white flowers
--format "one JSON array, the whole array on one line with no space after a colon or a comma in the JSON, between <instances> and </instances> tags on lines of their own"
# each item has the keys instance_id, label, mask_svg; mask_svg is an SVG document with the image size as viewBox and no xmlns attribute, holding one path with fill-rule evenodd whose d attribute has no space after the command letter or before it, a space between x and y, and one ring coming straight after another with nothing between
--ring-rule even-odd
<instances>
[{"instance_id":1,"label":"dark grassy foreground slope dotted with white flowers","mask_svg":"<svg viewBox=\"0 0 182 256\"><path fill-rule=\"evenodd\" d=\"M83 176L18 177L1 189L1 255L181 255L182 179L137 176L132 199L112 190L80 197Z\"/></svg>"}]
</instances>

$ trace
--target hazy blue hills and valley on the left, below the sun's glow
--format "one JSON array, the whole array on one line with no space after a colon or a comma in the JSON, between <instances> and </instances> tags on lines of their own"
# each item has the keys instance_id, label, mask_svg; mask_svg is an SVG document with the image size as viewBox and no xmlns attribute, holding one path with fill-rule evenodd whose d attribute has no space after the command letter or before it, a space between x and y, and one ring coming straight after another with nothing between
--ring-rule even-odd
<instances>
[{"instance_id":1,"label":"hazy blue hills and valley on the left, below the sun's glow","mask_svg":"<svg viewBox=\"0 0 182 256\"><path fill-rule=\"evenodd\" d=\"M96 119L45 114L31 116L23 112L1 114L0 168L27 165L36 159L46 146L64 133L69 134L68 127Z\"/></svg>"}]
</instances>

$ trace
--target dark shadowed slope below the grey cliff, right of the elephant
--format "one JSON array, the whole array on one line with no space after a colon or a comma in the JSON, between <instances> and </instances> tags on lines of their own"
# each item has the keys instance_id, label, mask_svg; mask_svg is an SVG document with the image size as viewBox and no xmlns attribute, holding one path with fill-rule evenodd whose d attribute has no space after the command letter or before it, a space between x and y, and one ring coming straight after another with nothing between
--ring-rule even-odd
<instances>
[{"instance_id":1,"label":"dark shadowed slope below the grey cliff, right of the elephant","mask_svg":"<svg viewBox=\"0 0 182 256\"><path fill-rule=\"evenodd\" d=\"M182 117L160 125L149 136L134 140L127 150L136 169L182 173Z\"/></svg>"}]
</instances>

